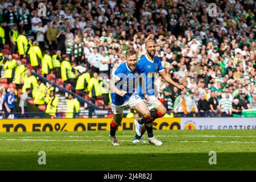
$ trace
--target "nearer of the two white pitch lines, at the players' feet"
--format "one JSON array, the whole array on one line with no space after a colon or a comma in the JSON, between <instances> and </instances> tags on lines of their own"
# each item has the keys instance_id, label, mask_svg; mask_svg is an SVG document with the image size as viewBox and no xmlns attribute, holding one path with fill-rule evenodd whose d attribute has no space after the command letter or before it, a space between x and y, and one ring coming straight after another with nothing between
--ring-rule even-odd
<instances>
[{"instance_id":1,"label":"nearer of the two white pitch lines, at the players' feet","mask_svg":"<svg viewBox=\"0 0 256 182\"><path fill-rule=\"evenodd\" d=\"M41 141L41 142L110 142L110 140L56 140L56 139L0 139L5 141ZM119 140L120 142L131 142L131 140ZM188 142L188 143L256 143L241 141L196 141L196 140L163 140L163 142Z\"/></svg>"}]
</instances>

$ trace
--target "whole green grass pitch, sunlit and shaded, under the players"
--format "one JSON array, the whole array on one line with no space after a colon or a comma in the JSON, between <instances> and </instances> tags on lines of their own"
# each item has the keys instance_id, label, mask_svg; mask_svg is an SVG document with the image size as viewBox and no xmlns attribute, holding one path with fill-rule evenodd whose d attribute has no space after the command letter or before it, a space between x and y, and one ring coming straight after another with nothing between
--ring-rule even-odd
<instances>
[{"instance_id":1,"label":"whole green grass pitch, sunlit and shaded, under the players","mask_svg":"<svg viewBox=\"0 0 256 182\"><path fill-rule=\"evenodd\" d=\"M162 146L132 143L134 131L2 133L0 170L255 170L256 130L155 130ZM147 137L143 137L147 141ZM38 152L46 152L46 165ZM210 165L209 151L217 152Z\"/></svg>"}]
</instances>

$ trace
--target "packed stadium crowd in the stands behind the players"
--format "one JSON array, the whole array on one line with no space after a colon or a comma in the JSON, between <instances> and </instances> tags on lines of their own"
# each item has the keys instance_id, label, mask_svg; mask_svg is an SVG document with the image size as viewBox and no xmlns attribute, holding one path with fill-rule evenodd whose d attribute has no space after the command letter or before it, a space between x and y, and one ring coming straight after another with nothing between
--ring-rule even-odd
<instances>
[{"instance_id":1,"label":"packed stadium crowd in the stands behind the players","mask_svg":"<svg viewBox=\"0 0 256 182\"><path fill-rule=\"evenodd\" d=\"M46 14L38 8L40 2ZM168 111L241 114L256 109L256 84L249 75L256 57L256 2L216 5L217 16L209 16L209 1L197 0L5 0L0 9L0 69L22 93L32 85L35 104L36 99L47 104L52 85L40 87L42 80L30 78L30 69L53 76L57 84L70 84L73 92L89 94L93 103L102 96L108 105L109 91L103 85L125 61L126 50L135 49L140 59L146 40L154 39L163 68L185 86L180 92L157 78L156 96ZM0 110L13 93L5 97L5 89L0 90Z\"/></svg>"}]
</instances>

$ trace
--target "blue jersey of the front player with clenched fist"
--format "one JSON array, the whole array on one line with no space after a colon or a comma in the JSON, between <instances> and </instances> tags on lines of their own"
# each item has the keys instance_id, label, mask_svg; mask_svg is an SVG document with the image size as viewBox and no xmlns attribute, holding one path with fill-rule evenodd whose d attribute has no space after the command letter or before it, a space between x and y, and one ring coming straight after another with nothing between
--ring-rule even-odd
<instances>
[{"instance_id":1,"label":"blue jersey of the front player with clenched fist","mask_svg":"<svg viewBox=\"0 0 256 182\"><path fill-rule=\"evenodd\" d=\"M117 89L124 90L127 93L125 96L121 97L118 96L118 94L111 92L110 95L112 104L119 106L129 100L131 95L135 92L135 81L138 79L140 74L141 68L138 66L134 69L134 71L131 71L126 63L119 65L114 73L114 77L119 80L115 86Z\"/></svg>"}]
</instances>

